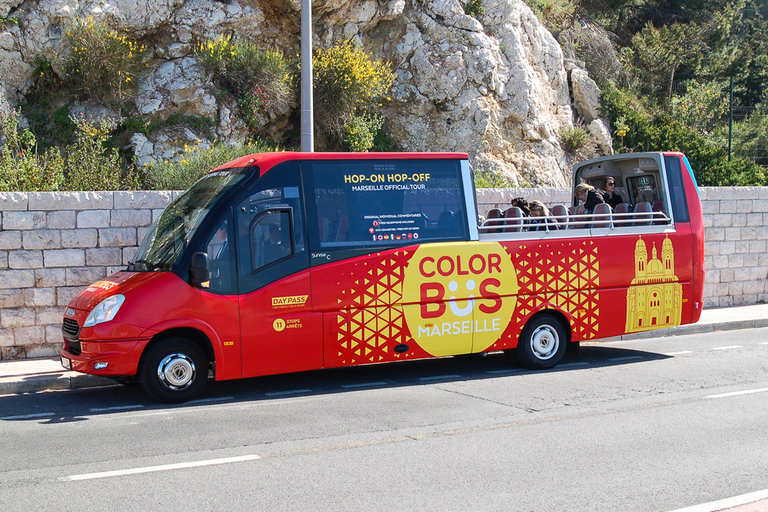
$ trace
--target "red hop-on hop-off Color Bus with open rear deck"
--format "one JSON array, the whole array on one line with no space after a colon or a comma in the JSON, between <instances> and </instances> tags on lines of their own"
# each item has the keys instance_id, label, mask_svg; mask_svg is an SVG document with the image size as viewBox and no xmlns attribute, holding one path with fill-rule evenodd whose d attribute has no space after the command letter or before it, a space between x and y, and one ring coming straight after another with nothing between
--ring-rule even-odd
<instances>
[{"instance_id":1,"label":"red hop-on hop-off Color Bus with open rear deck","mask_svg":"<svg viewBox=\"0 0 768 512\"><path fill-rule=\"evenodd\" d=\"M697 185L681 153L602 157L574 183L623 202L478 212L463 153L265 153L174 200L121 272L66 309L62 364L154 399L229 380L566 346L696 322ZM483 216L479 216L482 213ZM484 218L485 217L485 218Z\"/></svg>"}]
</instances>

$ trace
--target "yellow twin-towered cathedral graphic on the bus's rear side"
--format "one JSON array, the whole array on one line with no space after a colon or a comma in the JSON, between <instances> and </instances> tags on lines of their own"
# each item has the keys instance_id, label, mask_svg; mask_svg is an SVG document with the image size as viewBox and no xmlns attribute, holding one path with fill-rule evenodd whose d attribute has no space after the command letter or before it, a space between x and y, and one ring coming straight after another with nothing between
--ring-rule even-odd
<instances>
[{"instance_id":1,"label":"yellow twin-towered cathedral graphic on the bus's rear side","mask_svg":"<svg viewBox=\"0 0 768 512\"><path fill-rule=\"evenodd\" d=\"M635 244L635 278L627 289L626 332L648 331L680 325L683 313L683 285L675 275L675 250L664 238L661 258L653 242L651 257L643 237Z\"/></svg>"}]
</instances>

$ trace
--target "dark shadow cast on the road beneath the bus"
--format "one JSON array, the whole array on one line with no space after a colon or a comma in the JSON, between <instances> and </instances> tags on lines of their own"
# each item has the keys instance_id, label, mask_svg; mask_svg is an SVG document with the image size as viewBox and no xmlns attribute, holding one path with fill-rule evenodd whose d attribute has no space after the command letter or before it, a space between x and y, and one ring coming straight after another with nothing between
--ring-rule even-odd
<instances>
[{"instance_id":1,"label":"dark shadow cast on the road beneath the bus","mask_svg":"<svg viewBox=\"0 0 768 512\"><path fill-rule=\"evenodd\" d=\"M468 355L330 368L307 372L209 382L204 395L182 404L152 402L138 386L108 386L70 389L47 393L0 396L0 421L32 421L59 424L104 415L136 411L163 411L181 407L204 407L217 403L278 401L296 397L322 396L366 390L395 389L482 381L498 378L525 378L626 366L668 359L664 354L642 350L590 345L566 353L563 361L547 370L529 370L503 353Z\"/></svg>"}]
</instances>

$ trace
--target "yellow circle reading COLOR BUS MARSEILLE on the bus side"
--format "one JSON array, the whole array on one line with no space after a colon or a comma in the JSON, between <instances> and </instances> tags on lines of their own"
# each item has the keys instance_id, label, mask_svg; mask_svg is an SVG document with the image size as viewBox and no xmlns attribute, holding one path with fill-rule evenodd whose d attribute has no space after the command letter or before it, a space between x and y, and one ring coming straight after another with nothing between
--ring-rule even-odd
<instances>
[{"instance_id":1,"label":"yellow circle reading COLOR BUS MARSEILLE on the bus side","mask_svg":"<svg viewBox=\"0 0 768 512\"><path fill-rule=\"evenodd\" d=\"M405 320L433 356L482 352L509 324L518 289L497 242L422 245L405 269Z\"/></svg>"}]
</instances>

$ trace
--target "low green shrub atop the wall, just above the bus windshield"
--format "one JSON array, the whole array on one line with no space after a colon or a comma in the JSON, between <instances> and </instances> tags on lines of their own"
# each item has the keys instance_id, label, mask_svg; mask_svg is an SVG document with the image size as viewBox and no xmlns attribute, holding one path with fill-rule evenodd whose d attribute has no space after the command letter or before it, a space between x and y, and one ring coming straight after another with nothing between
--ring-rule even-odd
<instances>
[{"instance_id":1,"label":"low green shrub atop the wall, just above the bus windshield","mask_svg":"<svg viewBox=\"0 0 768 512\"><path fill-rule=\"evenodd\" d=\"M249 142L228 147L214 144L208 148L192 148L178 161L166 160L146 167L147 179L156 190L186 190L211 169L230 160L253 153L276 151L264 142Z\"/></svg>"}]
</instances>

